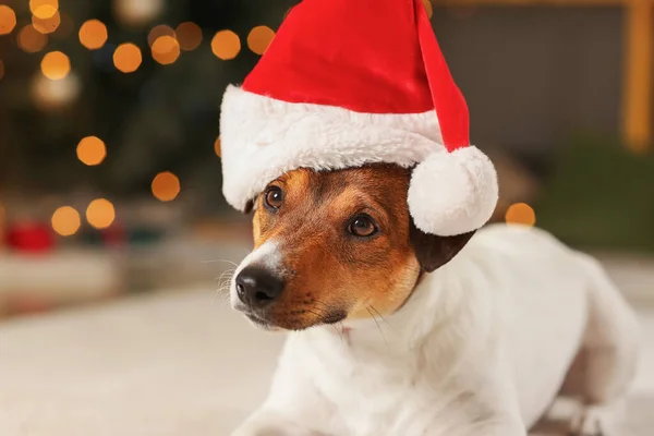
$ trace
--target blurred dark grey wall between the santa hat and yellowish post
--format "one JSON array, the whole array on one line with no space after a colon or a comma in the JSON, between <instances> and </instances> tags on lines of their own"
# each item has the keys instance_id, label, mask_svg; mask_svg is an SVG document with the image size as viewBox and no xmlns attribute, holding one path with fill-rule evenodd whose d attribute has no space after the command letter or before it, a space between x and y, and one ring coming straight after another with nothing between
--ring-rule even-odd
<instances>
[{"instance_id":1,"label":"blurred dark grey wall between the santa hat and yellowish post","mask_svg":"<svg viewBox=\"0 0 654 436\"><path fill-rule=\"evenodd\" d=\"M435 9L473 141L540 155L579 131L617 137L622 15L608 7Z\"/></svg>"}]
</instances>

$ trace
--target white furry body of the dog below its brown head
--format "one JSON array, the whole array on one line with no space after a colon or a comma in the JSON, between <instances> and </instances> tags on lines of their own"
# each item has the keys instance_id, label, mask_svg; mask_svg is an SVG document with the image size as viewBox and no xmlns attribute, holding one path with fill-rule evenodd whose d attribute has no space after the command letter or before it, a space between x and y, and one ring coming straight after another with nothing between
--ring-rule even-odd
<instances>
[{"instance_id":1,"label":"white furry body of the dog below its brown head","mask_svg":"<svg viewBox=\"0 0 654 436\"><path fill-rule=\"evenodd\" d=\"M282 254L267 239L237 272ZM292 332L269 398L235 435L522 436L561 391L588 405L576 435L616 434L637 323L594 259L491 226L419 277L384 314Z\"/></svg>"}]
</instances>

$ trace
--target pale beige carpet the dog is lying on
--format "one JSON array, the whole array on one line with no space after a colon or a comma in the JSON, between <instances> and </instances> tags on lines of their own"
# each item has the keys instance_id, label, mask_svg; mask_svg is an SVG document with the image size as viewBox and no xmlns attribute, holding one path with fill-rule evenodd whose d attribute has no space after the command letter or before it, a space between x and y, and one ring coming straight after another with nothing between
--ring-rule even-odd
<instances>
[{"instance_id":1,"label":"pale beige carpet the dog is lying on","mask_svg":"<svg viewBox=\"0 0 654 436\"><path fill-rule=\"evenodd\" d=\"M654 428L654 311L643 324L633 436ZM0 324L0 435L228 435L265 396L280 340L208 288Z\"/></svg>"}]
</instances>

